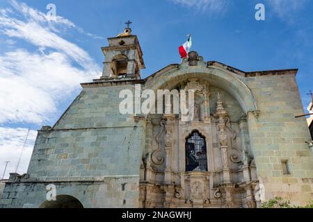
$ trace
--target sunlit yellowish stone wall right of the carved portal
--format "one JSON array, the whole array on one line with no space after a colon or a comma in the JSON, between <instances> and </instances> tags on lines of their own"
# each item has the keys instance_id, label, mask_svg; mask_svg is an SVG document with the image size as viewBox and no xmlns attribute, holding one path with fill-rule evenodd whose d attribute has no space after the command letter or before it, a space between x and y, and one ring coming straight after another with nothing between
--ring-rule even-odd
<instances>
[{"instance_id":1,"label":"sunlit yellowish stone wall right of the carved portal","mask_svg":"<svg viewBox=\"0 0 313 222\"><path fill-rule=\"evenodd\" d=\"M310 140L294 75L246 78L261 111L248 116L250 140L257 173L265 185L266 200L282 196L295 205L313 199L313 158L305 141ZM282 162L288 161L284 175Z\"/></svg>"}]
</instances>

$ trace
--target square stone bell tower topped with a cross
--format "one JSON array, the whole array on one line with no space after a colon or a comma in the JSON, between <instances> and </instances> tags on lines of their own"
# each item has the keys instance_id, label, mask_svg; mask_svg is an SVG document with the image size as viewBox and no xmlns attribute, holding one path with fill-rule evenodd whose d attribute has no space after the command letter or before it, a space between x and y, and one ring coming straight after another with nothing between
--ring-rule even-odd
<instances>
[{"instance_id":1,"label":"square stone bell tower topped with a cross","mask_svg":"<svg viewBox=\"0 0 313 222\"><path fill-rule=\"evenodd\" d=\"M109 46L102 47L104 68L102 79L135 78L141 79L140 70L145 69L143 52L136 35L131 34L128 21L124 33L117 37L109 37Z\"/></svg>"}]
</instances>

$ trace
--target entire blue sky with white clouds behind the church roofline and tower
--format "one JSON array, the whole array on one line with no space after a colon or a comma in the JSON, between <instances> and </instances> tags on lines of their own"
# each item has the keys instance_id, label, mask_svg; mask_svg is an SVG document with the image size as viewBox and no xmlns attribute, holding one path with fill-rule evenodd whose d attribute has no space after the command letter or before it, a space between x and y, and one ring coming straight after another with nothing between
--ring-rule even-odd
<instances>
[{"instance_id":1,"label":"entire blue sky with white clouds behind the church roofline and tower","mask_svg":"<svg viewBox=\"0 0 313 222\"><path fill-rule=\"evenodd\" d=\"M48 3L56 16L48 17ZM264 3L265 21L255 19ZM193 35L192 49L243 71L298 68L307 106L313 83L313 1L0 0L0 176L2 162L15 171L27 129L29 141L18 172L26 171L37 129L53 125L81 90L101 75L106 37L131 19L143 49L145 78L179 63L177 48ZM8 174L6 173L6 176Z\"/></svg>"}]
</instances>

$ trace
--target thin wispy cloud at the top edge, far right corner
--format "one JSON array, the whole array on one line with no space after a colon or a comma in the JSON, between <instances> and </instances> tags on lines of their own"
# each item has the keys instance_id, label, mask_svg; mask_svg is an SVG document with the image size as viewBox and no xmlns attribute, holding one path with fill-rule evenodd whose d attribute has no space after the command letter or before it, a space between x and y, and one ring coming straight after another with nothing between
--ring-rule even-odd
<instances>
[{"instance_id":1,"label":"thin wispy cloud at the top edge, far right corner","mask_svg":"<svg viewBox=\"0 0 313 222\"><path fill-rule=\"evenodd\" d=\"M266 0L276 16L287 22L294 22L295 13L305 7L307 0Z\"/></svg>"}]
</instances>

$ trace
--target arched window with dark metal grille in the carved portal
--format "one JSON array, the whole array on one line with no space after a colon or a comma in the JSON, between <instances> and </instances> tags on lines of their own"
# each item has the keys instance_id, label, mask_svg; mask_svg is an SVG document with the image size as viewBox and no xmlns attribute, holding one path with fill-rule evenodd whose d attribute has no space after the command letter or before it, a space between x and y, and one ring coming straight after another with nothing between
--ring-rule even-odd
<instances>
[{"instance_id":1,"label":"arched window with dark metal grille in the carved portal","mask_svg":"<svg viewBox=\"0 0 313 222\"><path fill-rule=\"evenodd\" d=\"M198 131L186 138L186 171L207 171L207 144Z\"/></svg>"}]
</instances>

